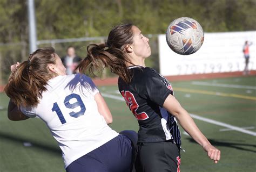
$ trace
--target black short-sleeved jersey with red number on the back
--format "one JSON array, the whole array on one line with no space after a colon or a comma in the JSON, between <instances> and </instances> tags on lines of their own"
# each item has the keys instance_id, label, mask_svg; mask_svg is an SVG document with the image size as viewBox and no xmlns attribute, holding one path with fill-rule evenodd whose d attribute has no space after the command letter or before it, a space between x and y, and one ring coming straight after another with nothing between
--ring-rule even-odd
<instances>
[{"instance_id":1,"label":"black short-sleeved jersey with red number on the back","mask_svg":"<svg viewBox=\"0 0 256 172\"><path fill-rule=\"evenodd\" d=\"M180 145L177 121L163 104L173 95L171 84L149 67L129 67L132 80L126 84L118 78L119 91L139 123L138 142L173 140Z\"/></svg>"}]
</instances>

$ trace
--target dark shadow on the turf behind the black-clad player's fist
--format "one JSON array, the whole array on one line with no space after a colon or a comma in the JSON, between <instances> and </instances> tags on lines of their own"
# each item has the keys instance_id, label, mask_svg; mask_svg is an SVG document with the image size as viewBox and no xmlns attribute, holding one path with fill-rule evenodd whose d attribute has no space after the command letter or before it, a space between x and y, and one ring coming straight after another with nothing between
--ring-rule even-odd
<instances>
[{"instance_id":1,"label":"dark shadow on the turf behind the black-clad player's fist","mask_svg":"<svg viewBox=\"0 0 256 172\"><path fill-rule=\"evenodd\" d=\"M190 142L193 142L193 143L197 143L196 141L194 141L192 138L186 138L188 141ZM213 140L213 139L208 139L211 144L213 146L225 146L225 147L232 147L232 148L235 148L235 149L239 149L239 150L245 150L245 151L249 151L249 152L254 152L256 153L255 150L253 149L248 149L248 148L242 148L242 147L239 147L239 146L248 146L248 147L254 147L256 148L256 145L250 145L250 144L240 144L240 143L234 143L234 142L224 142L224 141L217 141L217 140Z\"/></svg>"}]
</instances>

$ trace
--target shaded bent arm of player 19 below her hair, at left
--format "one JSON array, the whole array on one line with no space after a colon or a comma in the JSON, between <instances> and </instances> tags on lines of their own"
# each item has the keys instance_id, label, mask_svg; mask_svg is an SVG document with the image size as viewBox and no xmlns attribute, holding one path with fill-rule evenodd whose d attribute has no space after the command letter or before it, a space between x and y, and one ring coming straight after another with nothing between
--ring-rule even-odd
<instances>
[{"instance_id":1,"label":"shaded bent arm of player 19 below her hair, at left","mask_svg":"<svg viewBox=\"0 0 256 172\"><path fill-rule=\"evenodd\" d=\"M9 105L8 105L8 118L10 120L25 120L25 119L28 119L29 117L28 116L25 116L25 114L23 114L19 109L18 107L14 104L14 102L11 101L10 99L10 102L9 102Z\"/></svg>"}]
</instances>

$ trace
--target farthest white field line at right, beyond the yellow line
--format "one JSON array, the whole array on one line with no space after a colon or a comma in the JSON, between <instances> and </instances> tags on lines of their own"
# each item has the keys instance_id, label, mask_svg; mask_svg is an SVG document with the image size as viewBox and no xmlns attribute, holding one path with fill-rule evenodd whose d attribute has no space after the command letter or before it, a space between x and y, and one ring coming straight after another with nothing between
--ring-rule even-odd
<instances>
[{"instance_id":1,"label":"farthest white field line at right, beyond the yellow line","mask_svg":"<svg viewBox=\"0 0 256 172\"><path fill-rule=\"evenodd\" d=\"M218 83L210 83L210 82L200 82L200 81L193 81L193 85L205 85L205 86L212 86L212 87L226 87L226 88L241 88L241 89L252 89L256 90L255 86L250 85L235 85L235 84L218 84Z\"/></svg>"}]
</instances>

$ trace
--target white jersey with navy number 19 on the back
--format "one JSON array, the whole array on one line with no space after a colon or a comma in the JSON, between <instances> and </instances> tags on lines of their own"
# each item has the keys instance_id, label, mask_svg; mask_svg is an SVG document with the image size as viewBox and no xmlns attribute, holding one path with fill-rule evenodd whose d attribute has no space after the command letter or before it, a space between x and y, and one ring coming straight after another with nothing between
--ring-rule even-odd
<instances>
[{"instance_id":1,"label":"white jersey with navy number 19 on the back","mask_svg":"<svg viewBox=\"0 0 256 172\"><path fill-rule=\"evenodd\" d=\"M48 82L37 107L21 107L28 117L41 118L57 140L65 168L79 157L117 137L98 112L99 92L85 75L57 76Z\"/></svg>"}]
</instances>

